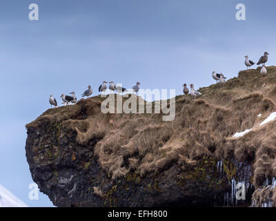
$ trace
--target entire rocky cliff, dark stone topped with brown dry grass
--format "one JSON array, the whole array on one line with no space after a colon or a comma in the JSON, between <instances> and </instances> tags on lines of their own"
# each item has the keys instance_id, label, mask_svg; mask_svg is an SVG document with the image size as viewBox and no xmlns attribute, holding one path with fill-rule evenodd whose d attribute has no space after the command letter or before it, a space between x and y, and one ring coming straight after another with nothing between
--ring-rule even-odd
<instances>
[{"instance_id":1,"label":"entire rocky cliff, dark stone topped with brown dry grass","mask_svg":"<svg viewBox=\"0 0 276 221\"><path fill-rule=\"evenodd\" d=\"M100 97L49 109L26 125L32 178L56 206L275 206L276 122L260 126L276 111L267 69L177 96L172 122L103 114Z\"/></svg>"}]
</instances>

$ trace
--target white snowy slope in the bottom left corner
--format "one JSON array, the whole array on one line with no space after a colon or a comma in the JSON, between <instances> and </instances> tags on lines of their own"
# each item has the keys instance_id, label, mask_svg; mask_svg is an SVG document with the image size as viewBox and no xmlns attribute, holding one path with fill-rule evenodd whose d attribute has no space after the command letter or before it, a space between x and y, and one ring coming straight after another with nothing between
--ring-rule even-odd
<instances>
[{"instance_id":1,"label":"white snowy slope in the bottom left corner","mask_svg":"<svg viewBox=\"0 0 276 221\"><path fill-rule=\"evenodd\" d=\"M0 184L0 207L28 207Z\"/></svg>"}]
</instances>

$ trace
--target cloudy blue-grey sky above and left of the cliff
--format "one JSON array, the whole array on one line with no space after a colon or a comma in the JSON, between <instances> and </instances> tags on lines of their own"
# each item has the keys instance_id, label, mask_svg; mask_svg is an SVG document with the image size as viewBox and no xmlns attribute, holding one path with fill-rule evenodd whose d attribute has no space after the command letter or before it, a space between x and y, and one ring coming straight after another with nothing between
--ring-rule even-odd
<instances>
[{"instance_id":1,"label":"cloudy blue-grey sky above and left of the cliff","mask_svg":"<svg viewBox=\"0 0 276 221\"><path fill-rule=\"evenodd\" d=\"M28 19L30 3L39 21ZM244 3L246 21L235 19ZM28 122L103 80L126 88L195 88L214 84L213 70L236 77L244 55L270 52L274 65L273 0L101 0L0 2L0 183L30 206L52 206L46 195L29 200L32 177L25 155Z\"/></svg>"}]
</instances>

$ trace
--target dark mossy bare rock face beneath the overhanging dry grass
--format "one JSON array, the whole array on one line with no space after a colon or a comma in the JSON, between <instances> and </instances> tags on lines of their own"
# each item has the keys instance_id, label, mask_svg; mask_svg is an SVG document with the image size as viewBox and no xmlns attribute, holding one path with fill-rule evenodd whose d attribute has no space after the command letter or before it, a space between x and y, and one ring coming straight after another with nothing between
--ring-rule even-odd
<instances>
[{"instance_id":1,"label":"dark mossy bare rock face beneath the overhanging dry grass","mask_svg":"<svg viewBox=\"0 0 276 221\"><path fill-rule=\"evenodd\" d=\"M140 177L131 172L111 180L94 154L98 140L82 146L75 138L73 131L47 123L39 129L28 128L26 157L32 178L55 206L230 205L224 196L231 192L230 182L213 157L200 160L188 171L174 163L159 174ZM241 166L235 168L243 173Z\"/></svg>"}]
</instances>

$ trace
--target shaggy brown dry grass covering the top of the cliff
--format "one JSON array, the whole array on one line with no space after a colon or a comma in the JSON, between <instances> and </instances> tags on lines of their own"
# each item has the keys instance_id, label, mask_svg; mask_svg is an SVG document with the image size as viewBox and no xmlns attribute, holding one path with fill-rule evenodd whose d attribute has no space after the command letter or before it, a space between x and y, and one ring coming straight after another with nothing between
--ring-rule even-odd
<instances>
[{"instance_id":1,"label":"shaggy brown dry grass covering the top of the cliff","mask_svg":"<svg viewBox=\"0 0 276 221\"><path fill-rule=\"evenodd\" d=\"M177 96L172 122L163 122L161 115L154 113L103 114L103 99L92 97L75 106L48 110L26 127L61 122L77 132L79 144L99 139L95 155L112 179L130 171L138 171L141 176L159 172L172 162L185 168L204 156L215 156L217 160L236 157L253 164L257 189L266 177L276 176L276 122L259 126L276 111L276 67L267 69L267 77L261 77L259 68L244 70L224 86L201 88L202 95L195 101L190 96ZM244 137L232 137L248 128L253 130Z\"/></svg>"}]
</instances>

